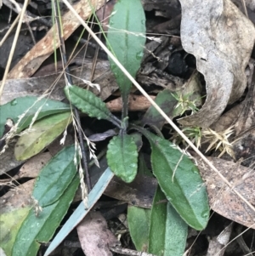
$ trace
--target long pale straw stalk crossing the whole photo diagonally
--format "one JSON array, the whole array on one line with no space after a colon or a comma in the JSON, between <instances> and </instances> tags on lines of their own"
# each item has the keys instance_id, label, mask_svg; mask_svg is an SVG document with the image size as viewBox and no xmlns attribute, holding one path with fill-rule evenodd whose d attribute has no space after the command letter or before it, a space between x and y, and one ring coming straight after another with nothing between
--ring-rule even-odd
<instances>
[{"instance_id":1,"label":"long pale straw stalk crossing the whole photo diagonally","mask_svg":"<svg viewBox=\"0 0 255 256\"><path fill-rule=\"evenodd\" d=\"M139 91L140 91L142 94L144 94L144 96L147 98L147 100L150 101L151 105L153 105L153 106L156 108L156 110L161 114L161 116L166 119L166 121L175 129L175 131L176 131L178 134L180 134L180 136L190 145L190 147L197 153L197 155L200 156L201 159L202 159L204 162L207 163L207 166L210 167L210 168L212 168L212 170L213 170L216 174L218 174L218 176L224 181L224 183L225 183L226 185L228 185L229 188L231 188L232 191L235 192L235 194L241 199L241 201L245 202L246 205L248 205L249 208L251 208L252 211L255 213L255 208L252 206L252 204L251 204L250 202L248 202L248 201L246 200L246 198L245 198L244 196L242 196L238 191L235 191L235 188L229 183L229 180L226 179L226 178L224 177L224 175L221 174L221 173L218 171L218 169L213 166L212 162L210 162L209 160L207 160L207 157L204 156L204 155L201 153L201 151L199 151L199 150L197 149L197 147L190 141L190 139L188 139L188 138L186 137L186 135L173 123L173 121L172 121L169 117L167 117L167 114L166 114L164 111L161 110L161 108L159 107L159 105L157 105L154 100L152 100L152 99L150 98L149 94L147 94L147 93L144 91L144 89L139 85L139 83L134 80L134 78L127 72L127 70L126 70L126 69L124 68L124 66L119 62L119 60L117 60L116 57L115 57L113 54L111 54L111 52L108 50L108 48L106 48L105 44L102 43L102 42L99 40L99 38L94 34L94 31L92 31L92 30L90 29L90 27L84 22L84 20L82 20L82 18L79 16L79 14L77 14L77 12L75 11L75 9L72 8L71 4L70 4L67 0L63 0L63 2L64 2L65 5L67 6L67 8L70 9L73 14L75 14L75 16L77 17L77 20L79 20L80 23L82 24L82 26L84 26L85 29L88 31L88 33L90 33L91 37L93 37L94 40L95 40L97 43L99 43L99 46L105 50L105 53L108 54L108 56L111 58L111 60L113 60L113 61L115 62L115 64L122 70L122 72L125 74L125 76L127 76L127 77L129 78L129 80L130 80L131 82L133 82L133 84L136 86L136 88L138 88ZM134 56L134 58L135 58L135 56Z\"/></svg>"}]
</instances>

